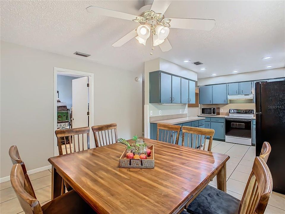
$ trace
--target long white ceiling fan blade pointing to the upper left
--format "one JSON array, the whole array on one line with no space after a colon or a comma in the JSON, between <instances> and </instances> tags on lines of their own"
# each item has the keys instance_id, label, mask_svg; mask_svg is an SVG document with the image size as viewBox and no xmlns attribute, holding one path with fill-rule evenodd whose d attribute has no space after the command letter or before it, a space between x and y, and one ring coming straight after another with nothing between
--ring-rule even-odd
<instances>
[{"instance_id":1,"label":"long white ceiling fan blade pointing to the upper left","mask_svg":"<svg viewBox=\"0 0 285 214\"><path fill-rule=\"evenodd\" d=\"M115 18L121 18L126 20L134 20L137 18L137 15L132 15L124 12L119 12L115 10L109 10L101 7L95 7L95 6L89 6L86 8L86 10L90 13L96 14L96 15L105 15Z\"/></svg>"}]
</instances>

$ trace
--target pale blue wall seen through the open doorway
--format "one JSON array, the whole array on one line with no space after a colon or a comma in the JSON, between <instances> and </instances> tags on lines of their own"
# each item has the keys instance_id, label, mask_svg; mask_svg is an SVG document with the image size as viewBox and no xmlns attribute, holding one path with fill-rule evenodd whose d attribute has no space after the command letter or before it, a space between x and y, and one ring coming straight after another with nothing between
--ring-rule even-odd
<instances>
[{"instance_id":1,"label":"pale blue wall seen through the open doorway","mask_svg":"<svg viewBox=\"0 0 285 214\"><path fill-rule=\"evenodd\" d=\"M58 98L62 103L66 103L67 108L72 107L72 80L78 77L57 75Z\"/></svg>"}]
</instances>

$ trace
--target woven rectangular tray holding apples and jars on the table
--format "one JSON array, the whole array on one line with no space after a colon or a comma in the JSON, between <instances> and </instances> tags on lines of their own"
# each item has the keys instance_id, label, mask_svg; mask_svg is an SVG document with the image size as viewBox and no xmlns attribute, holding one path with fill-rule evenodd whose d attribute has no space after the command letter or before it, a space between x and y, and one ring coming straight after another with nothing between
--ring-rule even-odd
<instances>
[{"instance_id":1,"label":"woven rectangular tray holding apples and jars on the table","mask_svg":"<svg viewBox=\"0 0 285 214\"><path fill-rule=\"evenodd\" d=\"M147 145L148 149L151 150L151 156L147 159L128 159L126 158L127 150L123 152L119 159L119 167L126 168L154 168L154 146Z\"/></svg>"}]
</instances>

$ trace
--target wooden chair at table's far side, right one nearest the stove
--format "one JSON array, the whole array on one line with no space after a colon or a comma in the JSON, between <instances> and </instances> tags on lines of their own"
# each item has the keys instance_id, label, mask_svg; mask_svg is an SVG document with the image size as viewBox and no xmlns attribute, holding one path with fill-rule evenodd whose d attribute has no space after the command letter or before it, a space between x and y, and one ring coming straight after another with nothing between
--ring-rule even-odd
<instances>
[{"instance_id":1,"label":"wooden chair at table's far side, right one nearest the stove","mask_svg":"<svg viewBox=\"0 0 285 214\"><path fill-rule=\"evenodd\" d=\"M182 146L205 150L206 140L209 137L207 151L211 151L215 130L182 126ZM203 145L203 146L202 146Z\"/></svg>"}]
</instances>

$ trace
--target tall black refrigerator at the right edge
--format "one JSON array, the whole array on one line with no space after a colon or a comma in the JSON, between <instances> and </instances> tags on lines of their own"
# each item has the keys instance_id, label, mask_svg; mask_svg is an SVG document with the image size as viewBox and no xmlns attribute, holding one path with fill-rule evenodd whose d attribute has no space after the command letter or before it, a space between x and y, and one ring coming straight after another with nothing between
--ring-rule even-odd
<instances>
[{"instance_id":1,"label":"tall black refrigerator at the right edge","mask_svg":"<svg viewBox=\"0 0 285 214\"><path fill-rule=\"evenodd\" d=\"M271 145L267 165L273 178L273 191L285 194L285 81L257 82L256 156L264 141Z\"/></svg>"}]
</instances>

